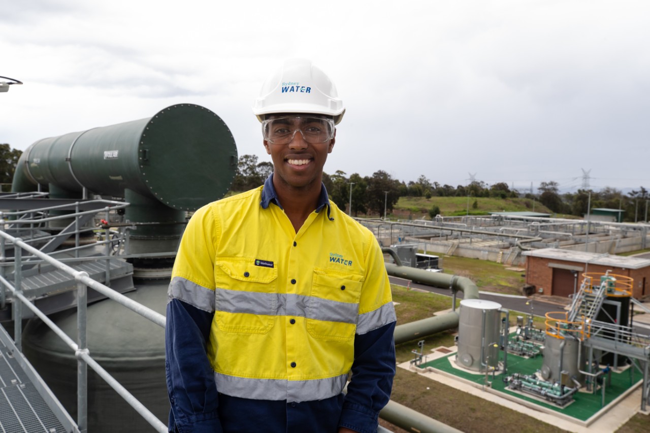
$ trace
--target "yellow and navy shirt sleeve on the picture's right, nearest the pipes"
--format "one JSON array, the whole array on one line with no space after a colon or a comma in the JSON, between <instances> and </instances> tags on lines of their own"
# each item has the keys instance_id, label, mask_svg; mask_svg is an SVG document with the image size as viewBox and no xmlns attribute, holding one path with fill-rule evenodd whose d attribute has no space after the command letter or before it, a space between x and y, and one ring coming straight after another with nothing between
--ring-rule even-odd
<instances>
[{"instance_id":1,"label":"yellow and navy shirt sleeve on the picture's right, nearest the pipes","mask_svg":"<svg viewBox=\"0 0 650 433\"><path fill-rule=\"evenodd\" d=\"M383 255L374 236L359 302L352 379L339 426L360 433L377 431L379 412L391 397L395 376L395 308Z\"/></svg>"}]
</instances>

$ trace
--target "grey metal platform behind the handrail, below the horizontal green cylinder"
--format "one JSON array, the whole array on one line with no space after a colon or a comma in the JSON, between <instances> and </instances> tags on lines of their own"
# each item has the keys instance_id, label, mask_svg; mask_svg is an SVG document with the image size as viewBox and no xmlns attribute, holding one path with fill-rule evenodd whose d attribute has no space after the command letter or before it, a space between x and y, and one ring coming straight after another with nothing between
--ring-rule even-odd
<instances>
[{"instance_id":1,"label":"grey metal platform behind the handrail, below the horizontal green cylinder","mask_svg":"<svg viewBox=\"0 0 650 433\"><path fill-rule=\"evenodd\" d=\"M110 288L119 293L135 290L133 265L116 257L108 259L108 262ZM68 265L75 270L88 272L88 276L93 280L106 283L107 259L88 257L78 263L68 262ZM13 276L9 276L7 279L12 281ZM33 300L34 304L45 314L57 313L77 305L75 292L77 283L74 278L51 265L23 270L22 287L23 295ZM88 291L88 302L95 302L103 298L105 296L94 290ZM11 308L0 310L0 322L12 319L11 315ZM29 319L32 314L30 311L25 311L23 317Z\"/></svg>"}]
</instances>

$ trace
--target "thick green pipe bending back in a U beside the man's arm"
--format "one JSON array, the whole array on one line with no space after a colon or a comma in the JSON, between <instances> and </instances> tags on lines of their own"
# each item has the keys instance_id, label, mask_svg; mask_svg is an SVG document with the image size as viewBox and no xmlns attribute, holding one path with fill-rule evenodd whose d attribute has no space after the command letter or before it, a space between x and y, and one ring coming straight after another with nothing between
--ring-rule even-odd
<instances>
[{"instance_id":1,"label":"thick green pipe bending back in a U beside the man's arm","mask_svg":"<svg viewBox=\"0 0 650 433\"><path fill-rule=\"evenodd\" d=\"M429 272L428 270L408 266L398 266L393 263L385 263L385 266L389 275L406 278L413 282L431 285L439 289L450 289L454 293L461 291L465 299L478 299L478 287L469 278L443 274L442 272ZM457 311L450 311L449 313L429 317L421 321L401 324L395 327L395 344L457 327Z\"/></svg>"}]
</instances>

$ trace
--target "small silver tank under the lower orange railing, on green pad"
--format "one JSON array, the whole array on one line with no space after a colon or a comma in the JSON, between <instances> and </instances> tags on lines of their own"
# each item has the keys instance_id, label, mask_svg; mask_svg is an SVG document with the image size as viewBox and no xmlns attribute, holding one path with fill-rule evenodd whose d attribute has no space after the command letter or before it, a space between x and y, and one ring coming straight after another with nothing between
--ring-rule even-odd
<instances>
[{"instance_id":1,"label":"small silver tank under the lower orange railing, on green pad","mask_svg":"<svg viewBox=\"0 0 650 433\"><path fill-rule=\"evenodd\" d=\"M544 340L544 361L541 365L541 377L549 382L559 382L562 371L567 371L569 378L584 382L584 354L580 354L580 342L572 338L557 338L547 335ZM580 364L578 365L578 361Z\"/></svg>"}]
</instances>

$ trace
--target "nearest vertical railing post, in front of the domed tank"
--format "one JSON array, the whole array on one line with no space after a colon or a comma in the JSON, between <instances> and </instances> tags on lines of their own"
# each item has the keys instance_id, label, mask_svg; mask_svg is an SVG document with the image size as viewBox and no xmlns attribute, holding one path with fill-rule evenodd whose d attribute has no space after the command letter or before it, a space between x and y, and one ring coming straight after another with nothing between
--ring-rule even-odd
<instances>
[{"instance_id":1,"label":"nearest vertical railing post, in front of the domed tank","mask_svg":"<svg viewBox=\"0 0 650 433\"><path fill-rule=\"evenodd\" d=\"M87 272L79 272L77 280L77 426L79 431L88 430L88 364L81 356L88 353L86 347L86 311L88 306L88 288L81 282L82 277L87 277Z\"/></svg>"}]
</instances>

